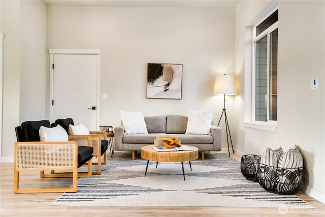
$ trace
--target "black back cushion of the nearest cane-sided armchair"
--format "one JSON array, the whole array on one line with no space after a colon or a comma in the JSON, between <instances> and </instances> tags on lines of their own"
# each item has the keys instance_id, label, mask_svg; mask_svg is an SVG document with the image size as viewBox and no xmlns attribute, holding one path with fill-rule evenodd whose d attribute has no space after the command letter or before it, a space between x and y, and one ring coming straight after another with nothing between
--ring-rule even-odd
<instances>
[{"instance_id":1,"label":"black back cushion of the nearest cane-sided armchair","mask_svg":"<svg viewBox=\"0 0 325 217\"><path fill-rule=\"evenodd\" d=\"M23 133L23 142L38 142L40 141L41 126L50 128L51 124L48 120L25 121L21 123Z\"/></svg>"}]
</instances>

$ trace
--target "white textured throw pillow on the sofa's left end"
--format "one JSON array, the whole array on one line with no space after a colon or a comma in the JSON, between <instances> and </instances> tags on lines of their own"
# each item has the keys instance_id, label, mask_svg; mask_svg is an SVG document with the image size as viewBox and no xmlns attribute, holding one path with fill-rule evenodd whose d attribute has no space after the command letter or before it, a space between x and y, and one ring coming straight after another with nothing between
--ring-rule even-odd
<instances>
[{"instance_id":1,"label":"white textured throw pillow on the sofa's left end","mask_svg":"<svg viewBox=\"0 0 325 217\"><path fill-rule=\"evenodd\" d=\"M120 111L125 134L148 134L142 112Z\"/></svg>"}]
</instances>

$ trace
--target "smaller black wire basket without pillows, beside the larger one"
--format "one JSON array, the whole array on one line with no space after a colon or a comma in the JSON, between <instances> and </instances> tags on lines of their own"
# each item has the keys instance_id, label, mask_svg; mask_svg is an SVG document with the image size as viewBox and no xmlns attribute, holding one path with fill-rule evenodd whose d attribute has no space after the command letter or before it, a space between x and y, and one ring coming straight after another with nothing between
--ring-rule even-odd
<instances>
[{"instance_id":1,"label":"smaller black wire basket without pillows, beside the larger one","mask_svg":"<svg viewBox=\"0 0 325 217\"><path fill-rule=\"evenodd\" d=\"M257 181L256 170L259 159L261 159L261 156L255 154L245 154L242 156L240 170L247 180Z\"/></svg>"}]
</instances>

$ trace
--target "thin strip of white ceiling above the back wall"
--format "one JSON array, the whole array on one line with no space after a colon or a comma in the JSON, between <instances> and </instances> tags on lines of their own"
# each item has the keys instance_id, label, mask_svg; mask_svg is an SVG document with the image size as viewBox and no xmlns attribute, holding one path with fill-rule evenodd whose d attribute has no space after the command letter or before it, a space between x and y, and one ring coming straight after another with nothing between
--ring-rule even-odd
<instances>
[{"instance_id":1,"label":"thin strip of white ceiling above the back wall","mask_svg":"<svg viewBox=\"0 0 325 217\"><path fill-rule=\"evenodd\" d=\"M239 0L43 0L46 5L158 8L235 8Z\"/></svg>"}]
</instances>

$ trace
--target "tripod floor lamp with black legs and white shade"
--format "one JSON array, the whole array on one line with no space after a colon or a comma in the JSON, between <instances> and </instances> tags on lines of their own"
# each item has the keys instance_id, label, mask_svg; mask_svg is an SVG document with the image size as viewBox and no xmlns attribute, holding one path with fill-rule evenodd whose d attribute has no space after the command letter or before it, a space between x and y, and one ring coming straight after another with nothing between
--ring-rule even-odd
<instances>
[{"instance_id":1,"label":"tripod floor lamp with black legs and white shade","mask_svg":"<svg viewBox=\"0 0 325 217\"><path fill-rule=\"evenodd\" d=\"M229 157L230 157L228 134L229 134L230 142L232 144L233 153L235 153L235 152L234 152L234 147L233 147L232 136L230 135L227 114L225 113L225 95L236 95L235 77L233 75L217 75L215 77L213 94L214 95L223 95L223 109L222 109L222 113L221 113L221 116L220 116L220 119L218 122L218 127L219 127L219 123L222 118L222 115L224 114L225 132L227 135L228 153L229 153Z\"/></svg>"}]
</instances>

